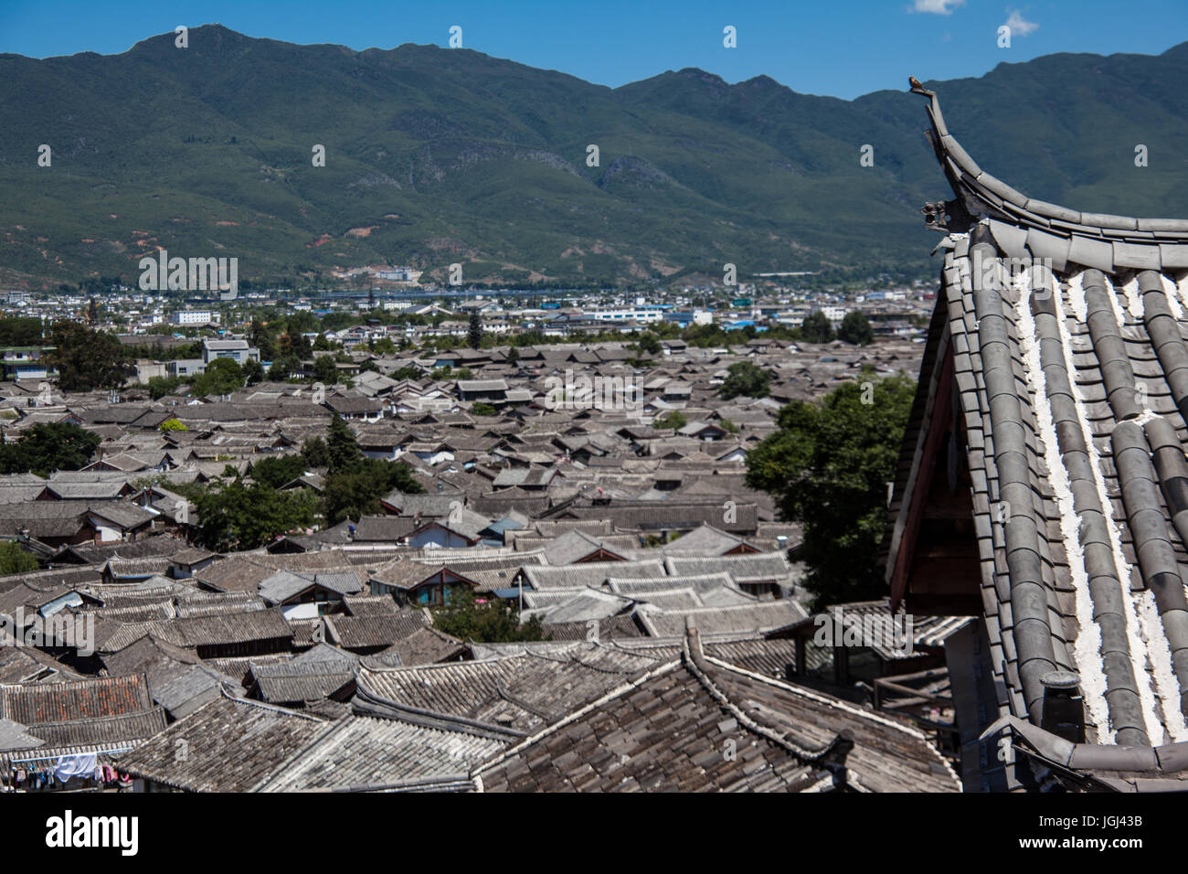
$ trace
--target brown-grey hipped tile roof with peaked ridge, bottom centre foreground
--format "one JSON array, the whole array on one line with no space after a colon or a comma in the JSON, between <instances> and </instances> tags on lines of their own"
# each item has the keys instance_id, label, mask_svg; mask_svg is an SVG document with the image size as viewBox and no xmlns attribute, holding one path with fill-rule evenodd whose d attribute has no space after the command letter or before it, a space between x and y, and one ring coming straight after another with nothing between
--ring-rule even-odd
<instances>
[{"instance_id":1,"label":"brown-grey hipped tile roof with peaked ridge, bottom centre foreground","mask_svg":"<svg viewBox=\"0 0 1188 874\"><path fill-rule=\"evenodd\" d=\"M707 658L608 690L474 773L487 792L953 792L914 728Z\"/></svg>"}]
</instances>

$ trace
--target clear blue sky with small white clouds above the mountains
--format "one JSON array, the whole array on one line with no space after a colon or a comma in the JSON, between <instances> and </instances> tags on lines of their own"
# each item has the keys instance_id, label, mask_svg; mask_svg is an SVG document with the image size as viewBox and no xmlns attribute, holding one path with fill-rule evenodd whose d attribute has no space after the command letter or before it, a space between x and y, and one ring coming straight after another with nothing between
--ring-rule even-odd
<instances>
[{"instance_id":1,"label":"clear blue sky with small white clouds above the mountains","mask_svg":"<svg viewBox=\"0 0 1188 874\"><path fill-rule=\"evenodd\" d=\"M997 30L1009 20L1011 48L1000 49ZM612 87L700 67L728 82L765 74L848 99L901 89L908 74L979 76L1060 51L1157 55L1188 40L1188 0L0 0L0 52L119 54L179 24L214 21L353 49L446 45L459 25L465 48ZM734 49L722 45L727 25Z\"/></svg>"}]
</instances>

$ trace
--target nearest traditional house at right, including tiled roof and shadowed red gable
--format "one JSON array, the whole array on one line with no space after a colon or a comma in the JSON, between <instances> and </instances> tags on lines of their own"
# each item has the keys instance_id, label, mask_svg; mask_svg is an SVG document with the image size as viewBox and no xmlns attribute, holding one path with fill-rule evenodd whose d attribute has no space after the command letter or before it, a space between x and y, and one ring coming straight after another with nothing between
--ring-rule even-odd
<instances>
[{"instance_id":1,"label":"nearest traditional house at right, including tiled roof and shadowed red gable","mask_svg":"<svg viewBox=\"0 0 1188 874\"><path fill-rule=\"evenodd\" d=\"M912 86L955 199L892 606L981 620L947 643L967 788L1188 786L1188 221L1030 199Z\"/></svg>"}]
</instances>

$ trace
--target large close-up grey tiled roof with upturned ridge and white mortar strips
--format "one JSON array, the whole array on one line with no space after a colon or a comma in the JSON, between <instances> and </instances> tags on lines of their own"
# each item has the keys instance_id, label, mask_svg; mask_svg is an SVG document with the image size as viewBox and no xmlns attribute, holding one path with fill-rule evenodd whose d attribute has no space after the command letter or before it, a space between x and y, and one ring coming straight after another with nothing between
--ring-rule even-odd
<instances>
[{"instance_id":1,"label":"large close-up grey tiled roof with upturned ridge and white mortar strips","mask_svg":"<svg viewBox=\"0 0 1188 874\"><path fill-rule=\"evenodd\" d=\"M1088 746L1156 769L1152 747L1188 742L1188 221L1026 197L914 90L956 194L925 207L949 233L916 421L952 367L999 712L1038 727L1045 675L1075 673ZM901 467L893 579L920 482Z\"/></svg>"}]
</instances>

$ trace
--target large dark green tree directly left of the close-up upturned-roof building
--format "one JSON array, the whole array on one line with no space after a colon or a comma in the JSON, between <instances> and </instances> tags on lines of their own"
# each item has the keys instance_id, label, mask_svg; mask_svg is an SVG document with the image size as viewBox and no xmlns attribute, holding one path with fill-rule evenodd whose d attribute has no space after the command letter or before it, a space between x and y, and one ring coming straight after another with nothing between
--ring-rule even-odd
<instances>
[{"instance_id":1,"label":"large dark green tree directly left of the close-up upturned-roof building","mask_svg":"<svg viewBox=\"0 0 1188 874\"><path fill-rule=\"evenodd\" d=\"M816 403L779 410L778 430L747 455L746 484L804 524L805 587L815 606L878 598L887 482L915 385L903 376L849 382Z\"/></svg>"}]
</instances>

